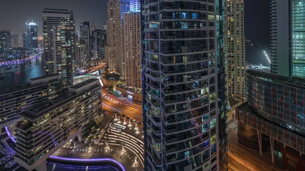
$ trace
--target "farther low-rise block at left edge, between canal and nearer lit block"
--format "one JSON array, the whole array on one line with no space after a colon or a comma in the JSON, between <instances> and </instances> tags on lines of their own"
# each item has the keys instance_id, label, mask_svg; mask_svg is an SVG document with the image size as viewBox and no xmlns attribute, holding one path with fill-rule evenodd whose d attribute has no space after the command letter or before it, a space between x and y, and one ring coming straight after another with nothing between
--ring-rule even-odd
<instances>
[{"instance_id":1,"label":"farther low-rise block at left edge, between canal and nearer lit block","mask_svg":"<svg viewBox=\"0 0 305 171\"><path fill-rule=\"evenodd\" d=\"M16 122L18 114L56 97L62 89L60 75L31 79L29 84L0 90L0 128Z\"/></svg>"}]
</instances>

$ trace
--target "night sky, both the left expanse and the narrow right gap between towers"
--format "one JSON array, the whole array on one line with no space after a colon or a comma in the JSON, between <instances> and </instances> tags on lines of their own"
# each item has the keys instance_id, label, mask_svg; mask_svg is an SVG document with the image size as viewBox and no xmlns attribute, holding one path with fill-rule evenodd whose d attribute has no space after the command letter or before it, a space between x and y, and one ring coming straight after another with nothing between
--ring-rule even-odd
<instances>
[{"instance_id":1,"label":"night sky, both the left expanse and the narrow right gap between towers","mask_svg":"<svg viewBox=\"0 0 305 171\"><path fill-rule=\"evenodd\" d=\"M244 1L246 39L253 44L246 45L246 59L251 63L264 63L261 47L269 47L269 1ZM25 22L31 17L38 24L41 36L44 8L73 10L76 30L79 30L80 22L90 21L103 26L107 19L107 0L5 0L1 6L0 29L9 29L15 34L25 31Z\"/></svg>"}]
</instances>

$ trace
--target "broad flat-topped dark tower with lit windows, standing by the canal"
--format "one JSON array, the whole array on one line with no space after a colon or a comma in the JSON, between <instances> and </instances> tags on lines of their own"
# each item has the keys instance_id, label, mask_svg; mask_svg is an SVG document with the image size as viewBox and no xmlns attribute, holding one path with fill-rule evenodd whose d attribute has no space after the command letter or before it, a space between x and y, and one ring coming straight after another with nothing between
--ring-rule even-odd
<instances>
[{"instance_id":1,"label":"broad flat-topped dark tower with lit windows, standing by the canal","mask_svg":"<svg viewBox=\"0 0 305 171\"><path fill-rule=\"evenodd\" d=\"M60 74L65 87L72 86L72 59L75 58L73 11L44 9L43 37L46 75Z\"/></svg>"}]
</instances>

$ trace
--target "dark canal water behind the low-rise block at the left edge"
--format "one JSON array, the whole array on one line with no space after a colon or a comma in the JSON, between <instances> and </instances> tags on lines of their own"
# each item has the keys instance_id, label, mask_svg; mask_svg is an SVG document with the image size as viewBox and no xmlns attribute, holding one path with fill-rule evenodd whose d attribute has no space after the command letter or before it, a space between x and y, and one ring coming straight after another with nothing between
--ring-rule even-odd
<instances>
[{"instance_id":1,"label":"dark canal water behind the low-rise block at the left edge","mask_svg":"<svg viewBox=\"0 0 305 171\"><path fill-rule=\"evenodd\" d=\"M44 76L44 61L42 55L15 68L0 79L0 90L29 83L29 79ZM19 72L19 73L18 73Z\"/></svg>"}]
</instances>

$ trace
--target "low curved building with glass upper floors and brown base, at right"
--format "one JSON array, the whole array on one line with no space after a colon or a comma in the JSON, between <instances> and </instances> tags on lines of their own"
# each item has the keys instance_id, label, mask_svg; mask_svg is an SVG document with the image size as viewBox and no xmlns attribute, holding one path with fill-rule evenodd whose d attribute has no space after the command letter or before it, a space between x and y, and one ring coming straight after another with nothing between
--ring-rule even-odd
<instances>
[{"instance_id":1,"label":"low curved building with glass upper floors and brown base, at right","mask_svg":"<svg viewBox=\"0 0 305 171\"><path fill-rule=\"evenodd\" d=\"M247 102L236 108L238 143L262 151L280 151L287 170L305 170L305 80L246 71Z\"/></svg>"}]
</instances>

